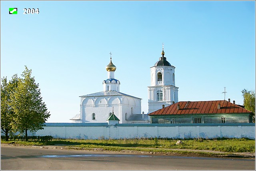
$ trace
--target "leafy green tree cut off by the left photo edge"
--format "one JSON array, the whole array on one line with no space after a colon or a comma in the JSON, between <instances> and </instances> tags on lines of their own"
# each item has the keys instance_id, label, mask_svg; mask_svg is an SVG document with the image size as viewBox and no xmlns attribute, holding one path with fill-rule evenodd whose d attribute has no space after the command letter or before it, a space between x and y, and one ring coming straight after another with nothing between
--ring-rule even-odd
<instances>
[{"instance_id":1,"label":"leafy green tree cut off by the left photo edge","mask_svg":"<svg viewBox=\"0 0 256 171\"><path fill-rule=\"evenodd\" d=\"M7 82L7 77L2 78L1 84L1 132L5 135L5 140L8 141L8 133L14 131L14 110L11 106L10 95L16 91L18 86L17 74L12 76L12 80Z\"/></svg>"}]
</instances>

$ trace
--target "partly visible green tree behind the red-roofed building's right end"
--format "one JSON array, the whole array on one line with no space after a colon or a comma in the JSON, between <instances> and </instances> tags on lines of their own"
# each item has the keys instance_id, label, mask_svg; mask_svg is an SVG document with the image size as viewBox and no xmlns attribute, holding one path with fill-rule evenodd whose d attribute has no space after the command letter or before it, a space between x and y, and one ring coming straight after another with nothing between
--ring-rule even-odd
<instances>
[{"instance_id":1,"label":"partly visible green tree behind the red-roofed building's right end","mask_svg":"<svg viewBox=\"0 0 256 171\"><path fill-rule=\"evenodd\" d=\"M252 116L252 122L255 122L255 91L247 91L247 89L243 89L242 94L244 97L244 107L254 114Z\"/></svg>"}]
</instances>

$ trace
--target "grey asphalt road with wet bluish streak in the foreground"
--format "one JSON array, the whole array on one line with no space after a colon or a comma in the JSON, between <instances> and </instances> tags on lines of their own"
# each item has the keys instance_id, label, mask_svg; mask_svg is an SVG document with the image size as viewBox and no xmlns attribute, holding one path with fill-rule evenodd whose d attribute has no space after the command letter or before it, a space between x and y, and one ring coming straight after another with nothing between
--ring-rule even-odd
<instances>
[{"instance_id":1,"label":"grey asphalt road with wet bluish streak in the foreground","mask_svg":"<svg viewBox=\"0 0 256 171\"><path fill-rule=\"evenodd\" d=\"M255 170L255 159L1 146L1 170Z\"/></svg>"}]
</instances>

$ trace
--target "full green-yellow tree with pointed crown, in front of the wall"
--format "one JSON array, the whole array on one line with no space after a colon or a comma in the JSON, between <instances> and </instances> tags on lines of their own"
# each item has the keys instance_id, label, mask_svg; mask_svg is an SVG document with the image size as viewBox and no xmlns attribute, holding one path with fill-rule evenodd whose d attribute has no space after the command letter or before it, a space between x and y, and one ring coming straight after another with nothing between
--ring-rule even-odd
<instances>
[{"instance_id":1,"label":"full green-yellow tree with pointed crown, in front of the wall","mask_svg":"<svg viewBox=\"0 0 256 171\"><path fill-rule=\"evenodd\" d=\"M39 84L31 77L32 70L22 72L23 79L19 79L16 91L11 95L11 104L15 112L15 129L25 133L28 141L28 130L37 131L44 129L44 123L50 117L46 105L40 96Z\"/></svg>"}]
</instances>

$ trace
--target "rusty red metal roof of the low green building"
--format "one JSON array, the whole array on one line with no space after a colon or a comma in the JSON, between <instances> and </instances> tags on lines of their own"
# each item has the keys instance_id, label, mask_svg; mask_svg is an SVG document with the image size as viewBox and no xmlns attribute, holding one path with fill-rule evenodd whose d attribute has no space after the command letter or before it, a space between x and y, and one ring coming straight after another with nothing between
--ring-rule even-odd
<instances>
[{"instance_id":1,"label":"rusty red metal roof of the low green building","mask_svg":"<svg viewBox=\"0 0 256 171\"><path fill-rule=\"evenodd\" d=\"M180 109L177 109L177 105ZM218 109L220 104L220 109ZM214 114L214 113L252 113L226 100L180 101L148 115Z\"/></svg>"}]
</instances>

